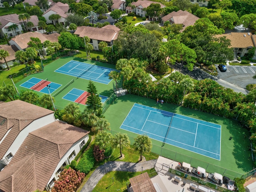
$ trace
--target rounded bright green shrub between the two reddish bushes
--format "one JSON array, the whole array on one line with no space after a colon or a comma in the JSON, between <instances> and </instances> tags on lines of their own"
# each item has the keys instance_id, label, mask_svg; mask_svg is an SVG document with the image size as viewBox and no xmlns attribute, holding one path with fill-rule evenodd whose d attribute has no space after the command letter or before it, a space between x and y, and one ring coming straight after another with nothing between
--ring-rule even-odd
<instances>
[{"instance_id":1,"label":"rounded bright green shrub between the two reddish bushes","mask_svg":"<svg viewBox=\"0 0 256 192\"><path fill-rule=\"evenodd\" d=\"M88 172L90 172L90 170L93 168L94 163L95 159L93 156L93 149L90 148L84 152L82 158L76 166L76 170L80 170L81 172L88 174Z\"/></svg>"}]
</instances>

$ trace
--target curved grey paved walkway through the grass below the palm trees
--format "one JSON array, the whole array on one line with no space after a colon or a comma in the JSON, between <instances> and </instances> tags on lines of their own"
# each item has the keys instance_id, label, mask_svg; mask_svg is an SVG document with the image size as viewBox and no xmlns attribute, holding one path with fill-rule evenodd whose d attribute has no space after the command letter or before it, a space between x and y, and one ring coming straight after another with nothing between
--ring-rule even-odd
<instances>
[{"instance_id":1,"label":"curved grey paved walkway through the grass below the palm trees","mask_svg":"<svg viewBox=\"0 0 256 192\"><path fill-rule=\"evenodd\" d=\"M98 184L101 178L110 171L127 171L127 172L141 172L154 168L157 160L149 160L146 162L130 163L122 161L110 161L104 165L96 168L89 180L86 182L81 192L92 192L94 187Z\"/></svg>"}]
</instances>

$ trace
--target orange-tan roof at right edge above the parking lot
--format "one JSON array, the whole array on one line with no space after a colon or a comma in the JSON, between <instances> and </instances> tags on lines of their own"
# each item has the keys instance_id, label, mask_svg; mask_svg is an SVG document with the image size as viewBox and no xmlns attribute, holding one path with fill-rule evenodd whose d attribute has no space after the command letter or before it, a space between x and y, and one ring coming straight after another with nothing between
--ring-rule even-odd
<instances>
[{"instance_id":1,"label":"orange-tan roof at right edge above the parking lot","mask_svg":"<svg viewBox=\"0 0 256 192\"><path fill-rule=\"evenodd\" d=\"M245 35L245 37L244 37ZM216 35L217 37L223 37L225 36L227 39L231 40L231 48L248 48L248 47L254 47L254 40L255 35L252 35L252 33L250 33L250 35L247 34L247 32L243 32L243 33L236 33L236 32L232 32L232 33L227 33L227 34L221 34L221 35Z\"/></svg>"}]
</instances>

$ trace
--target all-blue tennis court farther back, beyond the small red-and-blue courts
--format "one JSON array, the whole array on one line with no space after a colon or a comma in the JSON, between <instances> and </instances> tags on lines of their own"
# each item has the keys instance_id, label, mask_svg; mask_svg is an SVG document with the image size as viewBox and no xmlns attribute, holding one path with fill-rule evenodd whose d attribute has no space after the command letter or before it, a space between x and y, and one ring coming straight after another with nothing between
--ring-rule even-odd
<instances>
[{"instance_id":1,"label":"all-blue tennis court farther back, beyond the small red-and-blue courts","mask_svg":"<svg viewBox=\"0 0 256 192\"><path fill-rule=\"evenodd\" d=\"M70 62L56 69L55 72L74 76L76 78L108 84L111 81L108 74L113 70L114 69L71 60Z\"/></svg>"}]
</instances>

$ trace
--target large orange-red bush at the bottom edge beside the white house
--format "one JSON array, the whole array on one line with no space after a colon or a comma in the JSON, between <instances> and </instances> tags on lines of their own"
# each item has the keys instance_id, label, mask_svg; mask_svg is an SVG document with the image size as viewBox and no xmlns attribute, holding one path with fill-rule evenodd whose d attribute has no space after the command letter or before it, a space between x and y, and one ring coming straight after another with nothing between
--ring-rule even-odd
<instances>
[{"instance_id":1,"label":"large orange-red bush at the bottom edge beside the white house","mask_svg":"<svg viewBox=\"0 0 256 192\"><path fill-rule=\"evenodd\" d=\"M57 181L54 181L52 192L74 192L81 185L84 173L75 171L72 168L64 169Z\"/></svg>"}]
</instances>

